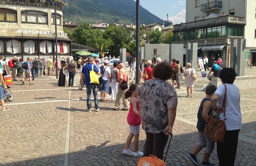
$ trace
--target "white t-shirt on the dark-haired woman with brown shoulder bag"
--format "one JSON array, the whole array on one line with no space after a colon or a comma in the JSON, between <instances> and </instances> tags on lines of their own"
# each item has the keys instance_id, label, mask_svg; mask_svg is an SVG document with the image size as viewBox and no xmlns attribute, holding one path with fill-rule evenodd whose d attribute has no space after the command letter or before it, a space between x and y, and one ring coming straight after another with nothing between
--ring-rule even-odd
<instances>
[{"instance_id":1,"label":"white t-shirt on the dark-haired woman with brown shoulder bag","mask_svg":"<svg viewBox=\"0 0 256 166\"><path fill-rule=\"evenodd\" d=\"M227 86L227 103L226 103L226 118L225 124L227 130L239 130L242 128L242 114L240 109L240 92L237 86L234 84L225 84ZM215 91L220 95L217 106L222 106L225 86L221 84ZM223 119L223 113L221 113L221 119Z\"/></svg>"}]
</instances>

